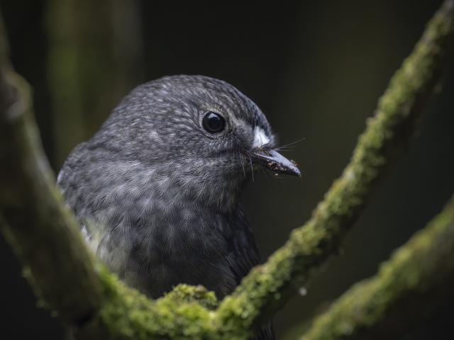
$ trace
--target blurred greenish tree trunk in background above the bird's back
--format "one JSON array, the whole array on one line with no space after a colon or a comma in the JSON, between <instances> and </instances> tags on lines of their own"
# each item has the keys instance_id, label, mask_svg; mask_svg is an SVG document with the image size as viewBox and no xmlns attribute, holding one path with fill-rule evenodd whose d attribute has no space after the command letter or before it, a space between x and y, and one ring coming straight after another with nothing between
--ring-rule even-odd
<instances>
[{"instance_id":1,"label":"blurred greenish tree trunk in background above the bird's back","mask_svg":"<svg viewBox=\"0 0 454 340\"><path fill-rule=\"evenodd\" d=\"M60 166L143 72L138 1L50 0L48 83Z\"/></svg>"}]
</instances>

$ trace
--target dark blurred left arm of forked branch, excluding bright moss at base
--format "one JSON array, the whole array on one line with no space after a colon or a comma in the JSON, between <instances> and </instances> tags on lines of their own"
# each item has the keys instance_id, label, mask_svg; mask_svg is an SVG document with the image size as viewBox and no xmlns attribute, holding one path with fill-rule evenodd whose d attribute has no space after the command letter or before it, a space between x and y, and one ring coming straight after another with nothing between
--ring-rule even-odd
<instances>
[{"instance_id":1,"label":"dark blurred left arm of forked branch, excluding bright moss at base","mask_svg":"<svg viewBox=\"0 0 454 340\"><path fill-rule=\"evenodd\" d=\"M43 302L68 322L91 317L101 285L40 145L31 91L11 69L0 23L1 231ZM77 278L77 280L74 280Z\"/></svg>"}]
</instances>

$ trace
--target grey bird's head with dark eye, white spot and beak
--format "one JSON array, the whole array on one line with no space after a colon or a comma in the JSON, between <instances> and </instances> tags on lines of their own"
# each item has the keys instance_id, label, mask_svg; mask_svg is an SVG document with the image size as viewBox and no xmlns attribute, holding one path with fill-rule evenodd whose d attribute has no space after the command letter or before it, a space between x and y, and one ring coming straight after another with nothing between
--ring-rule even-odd
<instances>
[{"instance_id":1,"label":"grey bird's head with dark eye, white spot and beak","mask_svg":"<svg viewBox=\"0 0 454 340\"><path fill-rule=\"evenodd\" d=\"M228 205L227 198L259 167L299 176L294 162L274 149L260 108L235 87L209 77L164 77L138 86L93 142L217 205Z\"/></svg>"}]
</instances>

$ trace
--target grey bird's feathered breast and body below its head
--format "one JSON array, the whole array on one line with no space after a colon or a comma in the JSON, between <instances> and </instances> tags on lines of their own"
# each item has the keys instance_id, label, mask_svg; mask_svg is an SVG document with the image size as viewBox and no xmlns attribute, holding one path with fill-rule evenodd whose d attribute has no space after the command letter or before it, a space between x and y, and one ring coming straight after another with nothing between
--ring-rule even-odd
<instances>
[{"instance_id":1,"label":"grey bird's feathered breast and body below its head","mask_svg":"<svg viewBox=\"0 0 454 340\"><path fill-rule=\"evenodd\" d=\"M128 284L154 297L178 283L225 295L237 283L228 263L231 213L206 204L212 193L198 177L164 170L92 164L65 177L62 188L91 248ZM216 197L232 201L226 190Z\"/></svg>"}]
</instances>

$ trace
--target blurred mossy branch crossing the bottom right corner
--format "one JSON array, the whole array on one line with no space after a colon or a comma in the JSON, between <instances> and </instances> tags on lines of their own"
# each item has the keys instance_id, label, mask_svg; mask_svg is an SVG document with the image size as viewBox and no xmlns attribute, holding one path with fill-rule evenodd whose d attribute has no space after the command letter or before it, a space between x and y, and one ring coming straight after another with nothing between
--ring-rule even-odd
<instances>
[{"instance_id":1,"label":"blurred mossy branch crossing the bottom right corner","mask_svg":"<svg viewBox=\"0 0 454 340\"><path fill-rule=\"evenodd\" d=\"M333 302L301 340L397 339L453 293L454 198L376 276Z\"/></svg>"}]
</instances>

